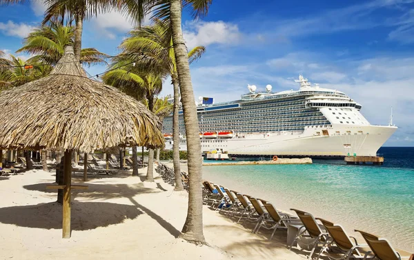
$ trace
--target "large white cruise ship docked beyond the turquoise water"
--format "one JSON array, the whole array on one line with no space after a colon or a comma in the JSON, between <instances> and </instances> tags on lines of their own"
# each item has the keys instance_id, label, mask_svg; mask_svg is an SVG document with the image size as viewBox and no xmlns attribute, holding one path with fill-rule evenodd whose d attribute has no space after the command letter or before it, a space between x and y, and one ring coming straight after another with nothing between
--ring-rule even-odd
<instances>
[{"instance_id":1,"label":"large white cruise ship docked beyond the turquoise water","mask_svg":"<svg viewBox=\"0 0 414 260\"><path fill-rule=\"evenodd\" d=\"M233 156L344 157L376 156L397 130L373 126L362 106L344 92L320 88L299 75L299 90L249 92L241 99L197 106L201 149ZM207 99L205 99L207 100ZM172 149L172 114L164 119L166 149ZM180 150L186 150L182 110L179 111Z\"/></svg>"}]
</instances>

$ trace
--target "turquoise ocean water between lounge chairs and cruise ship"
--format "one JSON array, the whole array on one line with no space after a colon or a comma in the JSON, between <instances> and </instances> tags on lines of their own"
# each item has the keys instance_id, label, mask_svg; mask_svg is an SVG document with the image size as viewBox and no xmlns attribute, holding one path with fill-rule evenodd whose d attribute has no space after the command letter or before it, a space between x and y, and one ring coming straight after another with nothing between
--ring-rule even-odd
<instances>
[{"instance_id":1,"label":"turquoise ocean water between lounge chairs and cruise ship","mask_svg":"<svg viewBox=\"0 0 414 260\"><path fill-rule=\"evenodd\" d=\"M414 252L414 148L383 147L383 166L314 160L308 165L205 166L204 179L280 210L297 208ZM293 212L292 212L293 213Z\"/></svg>"}]
</instances>

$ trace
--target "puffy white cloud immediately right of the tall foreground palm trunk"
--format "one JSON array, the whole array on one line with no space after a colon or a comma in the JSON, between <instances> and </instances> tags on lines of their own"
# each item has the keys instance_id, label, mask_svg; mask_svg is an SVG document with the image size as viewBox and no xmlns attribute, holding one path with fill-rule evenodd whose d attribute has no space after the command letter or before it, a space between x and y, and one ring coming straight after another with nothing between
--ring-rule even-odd
<instances>
[{"instance_id":1,"label":"puffy white cloud immediately right of the tall foreground palm trunk","mask_svg":"<svg viewBox=\"0 0 414 260\"><path fill-rule=\"evenodd\" d=\"M241 37L237 25L224 21L192 21L184 26L184 39L190 49L214 43L237 44Z\"/></svg>"}]
</instances>

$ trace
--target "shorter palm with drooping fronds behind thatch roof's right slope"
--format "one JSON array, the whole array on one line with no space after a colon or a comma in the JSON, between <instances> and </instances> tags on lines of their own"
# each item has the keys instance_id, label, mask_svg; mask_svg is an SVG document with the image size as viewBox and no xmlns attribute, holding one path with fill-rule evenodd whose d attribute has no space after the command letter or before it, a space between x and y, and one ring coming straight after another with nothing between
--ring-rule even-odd
<instances>
[{"instance_id":1,"label":"shorter palm with drooping fronds behind thatch roof's right slope","mask_svg":"<svg viewBox=\"0 0 414 260\"><path fill-rule=\"evenodd\" d=\"M129 64L126 65L125 64ZM123 66L122 68L119 68ZM115 86L120 90L126 92L137 100L141 100L143 97L148 102L148 109L154 111L155 97L162 90L162 79L156 74L140 74L139 68L135 67L131 61L124 60L114 63L112 65L113 70L110 70L103 75L103 81L108 85ZM132 150L132 153L134 151ZM136 154L136 153L135 153ZM136 157L136 155L135 155ZM134 155L132 154L132 159ZM138 175L138 170L132 175ZM148 170L146 181L154 181L154 150L148 149Z\"/></svg>"}]
</instances>

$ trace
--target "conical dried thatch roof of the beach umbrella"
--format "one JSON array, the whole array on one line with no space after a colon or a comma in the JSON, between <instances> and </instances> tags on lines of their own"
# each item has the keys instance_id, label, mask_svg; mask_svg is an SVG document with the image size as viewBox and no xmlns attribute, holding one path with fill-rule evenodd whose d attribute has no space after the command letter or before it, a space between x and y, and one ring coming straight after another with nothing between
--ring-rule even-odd
<instances>
[{"instance_id":1,"label":"conical dried thatch roof of the beach umbrella","mask_svg":"<svg viewBox=\"0 0 414 260\"><path fill-rule=\"evenodd\" d=\"M164 146L159 119L116 88L88 79L66 52L50 76L0 93L0 148Z\"/></svg>"}]
</instances>

